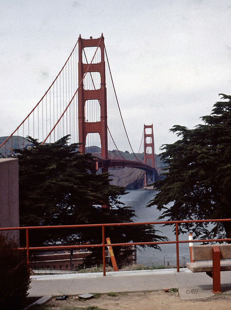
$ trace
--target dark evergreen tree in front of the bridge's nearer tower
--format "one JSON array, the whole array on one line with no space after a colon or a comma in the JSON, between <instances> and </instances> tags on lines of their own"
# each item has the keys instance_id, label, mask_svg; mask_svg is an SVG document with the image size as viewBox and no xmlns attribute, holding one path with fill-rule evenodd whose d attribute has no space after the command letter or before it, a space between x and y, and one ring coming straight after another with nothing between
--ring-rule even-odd
<instances>
[{"instance_id":1,"label":"dark evergreen tree in front of the bridge's nearer tower","mask_svg":"<svg viewBox=\"0 0 231 310\"><path fill-rule=\"evenodd\" d=\"M32 147L16 150L19 159L19 208L21 226L75 225L131 222L134 211L124 207L119 197L125 189L112 186L108 174L96 173L91 154L80 154L78 144L68 145L69 136L41 145L28 137ZM102 208L102 205L110 209ZM154 227L105 228L111 242L165 240ZM25 238L24 238L25 240ZM22 240L23 241L23 240ZM30 245L102 243L101 227L36 230L30 232ZM154 248L158 248L154 246ZM123 251L124 252L124 251ZM126 252L126 251L125 251ZM123 260L120 248L115 256ZM85 266L102 263L102 248L95 248Z\"/></svg>"}]
</instances>

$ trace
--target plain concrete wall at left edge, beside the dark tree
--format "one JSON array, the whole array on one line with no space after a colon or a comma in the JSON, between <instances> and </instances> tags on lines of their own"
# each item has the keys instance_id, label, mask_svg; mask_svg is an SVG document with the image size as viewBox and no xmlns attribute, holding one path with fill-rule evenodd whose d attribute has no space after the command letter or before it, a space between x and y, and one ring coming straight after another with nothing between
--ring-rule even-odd
<instances>
[{"instance_id":1,"label":"plain concrete wall at left edge, beside the dark tree","mask_svg":"<svg viewBox=\"0 0 231 310\"><path fill-rule=\"evenodd\" d=\"M0 227L19 226L18 159L0 159ZM18 231L6 231L19 242Z\"/></svg>"}]
</instances>

